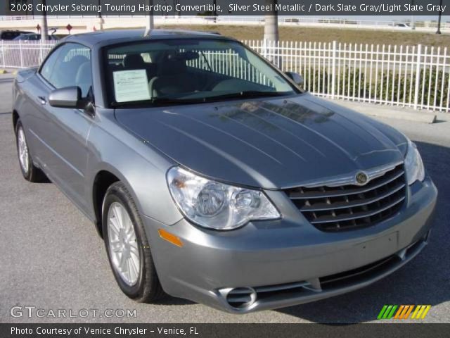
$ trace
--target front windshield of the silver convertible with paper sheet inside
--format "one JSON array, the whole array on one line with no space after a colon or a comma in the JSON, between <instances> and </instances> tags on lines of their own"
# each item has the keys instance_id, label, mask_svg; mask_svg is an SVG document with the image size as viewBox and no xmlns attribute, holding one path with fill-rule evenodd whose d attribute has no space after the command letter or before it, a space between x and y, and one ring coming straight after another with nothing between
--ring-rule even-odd
<instances>
[{"instance_id":1,"label":"front windshield of the silver convertible with paper sheet inside","mask_svg":"<svg viewBox=\"0 0 450 338\"><path fill-rule=\"evenodd\" d=\"M285 96L298 91L239 42L167 39L106 49L106 84L114 107L155 106Z\"/></svg>"}]
</instances>

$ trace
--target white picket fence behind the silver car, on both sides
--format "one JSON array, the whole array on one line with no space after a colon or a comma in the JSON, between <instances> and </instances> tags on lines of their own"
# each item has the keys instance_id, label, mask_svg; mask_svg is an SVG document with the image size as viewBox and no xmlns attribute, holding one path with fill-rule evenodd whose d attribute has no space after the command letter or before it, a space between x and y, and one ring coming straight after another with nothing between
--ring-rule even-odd
<instances>
[{"instance_id":1,"label":"white picket fence behind the silver car, on both sides","mask_svg":"<svg viewBox=\"0 0 450 338\"><path fill-rule=\"evenodd\" d=\"M39 65L56 42L1 42L0 66ZM447 48L245 41L283 71L300 73L304 88L331 99L450 112Z\"/></svg>"}]
</instances>

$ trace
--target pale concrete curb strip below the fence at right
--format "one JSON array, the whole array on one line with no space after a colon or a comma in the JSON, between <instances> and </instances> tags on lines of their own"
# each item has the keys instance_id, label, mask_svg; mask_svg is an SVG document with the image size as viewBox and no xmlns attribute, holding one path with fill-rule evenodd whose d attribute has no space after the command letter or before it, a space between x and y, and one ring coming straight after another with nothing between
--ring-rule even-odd
<instances>
[{"instance_id":1,"label":"pale concrete curb strip below the fence at right","mask_svg":"<svg viewBox=\"0 0 450 338\"><path fill-rule=\"evenodd\" d=\"M435 123L436 113L430 111L413 111L408 108L394 106L381 106L380 104L361 104L359 102L329 100L358 113L375 116L377 118L393 118L419 123Z\"/></svg>"}]
</instances>

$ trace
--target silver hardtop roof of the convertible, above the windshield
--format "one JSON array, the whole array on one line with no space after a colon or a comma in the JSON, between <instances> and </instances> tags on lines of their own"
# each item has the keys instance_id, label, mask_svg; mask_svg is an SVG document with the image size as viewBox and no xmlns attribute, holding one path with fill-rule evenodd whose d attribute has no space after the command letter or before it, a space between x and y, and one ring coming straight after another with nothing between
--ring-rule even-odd
<instances>
[{"instance_id":1,"label":"silver hardtop roof of the convertible, above the windshield","mask_svg":"<svg viewBox=\"0 0 450 338\"><path fill-rule=\"evenodd\" d=\"M193 30L150 30L150 33L147 36L144 36L144 34L145 30L106 30L69 35L63 39L63 42L78 42L80 44L99 48L101 46L120 44L122 42L142 41L143 39L184 39L193 37L206 39L232 39L230 37L222 37L214 32L197 32Z\"/></svg>"}]
</instances>

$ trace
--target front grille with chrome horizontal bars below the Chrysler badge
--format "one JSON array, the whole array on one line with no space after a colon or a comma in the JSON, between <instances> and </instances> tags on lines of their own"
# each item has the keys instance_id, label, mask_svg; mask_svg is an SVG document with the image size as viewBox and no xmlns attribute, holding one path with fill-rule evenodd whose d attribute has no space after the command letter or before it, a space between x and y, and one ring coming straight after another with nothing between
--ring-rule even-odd
<instances>
[{"instance_id":1,"label":"front grille with chrome horizontal bars below the Chrysler badge","mask_svg":"<svg viewBox=\"0 0 450 338\"><path fill-rule=\"evenodd\" d=\"M397 213L406 196L403 164L360 187L298 187L285 190L295 206L319 230L368 227Z\"/></svg>"}]
</instances>

